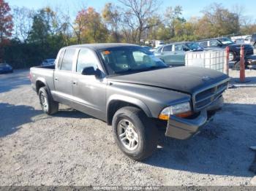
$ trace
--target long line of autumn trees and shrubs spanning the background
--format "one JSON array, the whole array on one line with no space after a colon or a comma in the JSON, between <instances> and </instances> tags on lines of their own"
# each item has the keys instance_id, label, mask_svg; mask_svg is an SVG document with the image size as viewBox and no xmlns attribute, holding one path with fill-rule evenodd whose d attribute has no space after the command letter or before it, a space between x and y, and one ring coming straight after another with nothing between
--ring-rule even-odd
<instances>
[{"instance_id":1,"label":"long line of autumn trees and shrubs spanning the background","mask_svg":"<svg viewBox=\"0 0 256 191\"><path fill-rule=\"evenodd\" d=\"M56 58L59 49L70 44L140 44L143 43L141 39L181 42L256 32L256 24L241 25L241 14L225 9L221 4L206 7L202 17L185 20L180 6L167 7L162 15L157 15L157 1L118 1L122 7L108 3L101 14L93 7L81 9L75 20L50 7L37 11L16 7L13 12L15 31L11 39L10 7L0 0L0 10L5 14L0 14L0 19L7 21L5 26L0 22L0 59L2 55L4 61L15 68L26 68L37 66L46 58Z\"/></svg>"}]
</instances>

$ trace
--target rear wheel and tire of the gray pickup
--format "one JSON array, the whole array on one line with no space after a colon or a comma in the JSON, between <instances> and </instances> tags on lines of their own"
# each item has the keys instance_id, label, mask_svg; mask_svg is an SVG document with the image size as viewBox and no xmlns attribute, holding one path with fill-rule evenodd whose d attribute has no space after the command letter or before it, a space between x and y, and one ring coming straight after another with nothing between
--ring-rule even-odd
<instances>
[{"instance_id":1,"label":"rear wheel and tire of the gray pickup","mask_svg":"<svg viewBox=\"0 0 256 191\"><path fill-rule=\"evenodd\" d=\"M42 111L45 114L55 114L59 111L59 103L53 101L53 98L48 94L46 87L41 87L38 92L39 103L42 107Z\"/></svg>"}]
</instances>

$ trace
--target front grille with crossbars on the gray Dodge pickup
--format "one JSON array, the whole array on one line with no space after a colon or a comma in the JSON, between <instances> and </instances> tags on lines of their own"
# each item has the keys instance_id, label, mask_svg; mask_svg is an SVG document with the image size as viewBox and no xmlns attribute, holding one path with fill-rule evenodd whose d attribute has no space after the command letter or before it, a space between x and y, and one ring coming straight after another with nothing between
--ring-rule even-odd
<instances>
[{"instance_id":1,"label":"front grille with crossbars on the gray Dodge pickup","mask_svg":"<svg viewBox=\"0 0 256 191\"><path fill-rule=\"evenodd\" d=\"M193 95L193 106L195 111L209 106L213 101L219 98L220 95L227 89L228 82L222 82L204 89Z\"/></svg>"}]
</instances>

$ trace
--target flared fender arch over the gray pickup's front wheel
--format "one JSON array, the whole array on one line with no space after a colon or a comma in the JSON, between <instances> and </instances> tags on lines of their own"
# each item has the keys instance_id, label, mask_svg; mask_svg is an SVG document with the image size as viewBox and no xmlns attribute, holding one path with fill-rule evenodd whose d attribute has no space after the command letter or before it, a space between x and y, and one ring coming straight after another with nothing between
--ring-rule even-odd
<instances>
[{"instance_id":1,"label":"flared fender arch over the gray pickup's front wheel","mask_svg":"<svg viewBox=\"0 0 256 191\"><path fill-rule=\"evenodd\" d=\"M152 117L150 109L148 109L148 106L146 106L146 104L143 103L143 101L140 101L137 98L131 98L129 96L124 96L124 95L112 95L108 99L108 104L106 109L108 125L112 125L114 114L118 109L121 109L124 106L137 107L141 109L146 114L146 116Z\"/></svg>"}]
</instances>

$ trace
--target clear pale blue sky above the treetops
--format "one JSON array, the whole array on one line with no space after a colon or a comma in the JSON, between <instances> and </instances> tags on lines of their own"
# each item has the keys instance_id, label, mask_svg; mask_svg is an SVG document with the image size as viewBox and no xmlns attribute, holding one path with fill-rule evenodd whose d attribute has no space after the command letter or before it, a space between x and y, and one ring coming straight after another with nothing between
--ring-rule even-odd
<instances>
[{"instance_id":1,"label":"clear pale blue sky above the treetops","mask_svg":"<svg viewBox=\"0 0 256 191\"><path fill-rule=\"evenodd\" d=\"M75 15L80 7L94 7L98 12L101 12L105 3L112 2L114 4L119 4L118 0L5 0L10 6L18 7L28 7L33 9L39 9L41 7L50 6L50 7L60 7L61 9L67 10L72 15ZM165 10L166 7L175 7L180 5L183 8L183 15L186 19L189 17L199 17L202 15L200 12L202 9L208 5L216 2L222 4L227 9L232 10L235 5L244 7L244 15L256 20L255 7L256 0L159 0L162 1L162 5L159 6L158 13L161 13Z\"/></svg>"}]
</instances>

